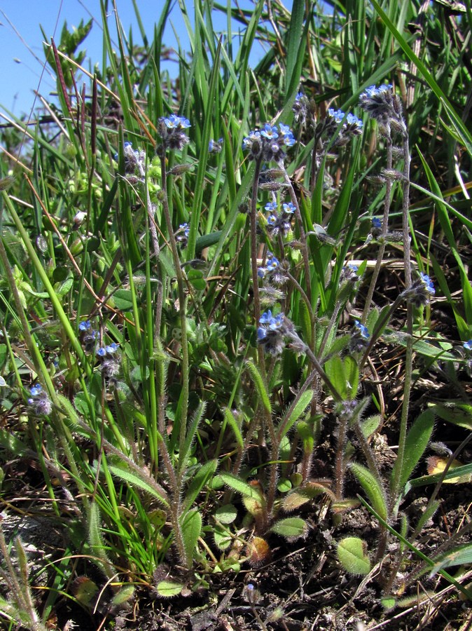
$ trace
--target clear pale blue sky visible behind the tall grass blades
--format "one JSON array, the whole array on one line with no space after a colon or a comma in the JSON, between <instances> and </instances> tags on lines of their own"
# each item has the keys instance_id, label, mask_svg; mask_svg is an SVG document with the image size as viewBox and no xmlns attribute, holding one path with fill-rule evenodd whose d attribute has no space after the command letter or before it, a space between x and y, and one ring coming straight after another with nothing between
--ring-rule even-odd
<instances>
[{"instance_id":1,"label":"clear pale blue sky visible behind the tall grass blades","mask_svg":"<svg viewBox=\"0 0 472 631\"><path fill-rule=\"evenodd\" d=\"M221 0L221 4L224 3L225 0ZM152 40L153 25L158 21L164 3L162 0L137 0L137 4L146 33ZM186 4L191 13L193 2L187 0ZM251 0L240 0L238 4L241 8L253 6ZM292 1L287 0L284 4L291 6ZM109 5L112 6L111 0ZM125 33L132 27L134 41L140 43L132 0L116 0L116 5ZM100 63L102 60L102 16L99 0L0 0L0 111L6 109L16 116L22 112L29 114L34 102L34 90L39 89L47 98L55 90L55 81L48 68L43 72L43 36L39 25L41 24L49 38L54 36L55 42L59 43L64 21L67 21L70 29L82 19L88 22L90 18L94 19L92 31L80 47L80 50L87 50L88 56L83 62L87 69L89 65L93 67L95 62ZM179 33L182 46L188 49L186 27L176 1L170 22ZM113 24L114 17L111 15L109 25ZM224 30L225 16L220 15L214 27L216 31ZM166 27L164 43L166 46L176 46L170 23Z\"/></svg>"}]
</instances>

